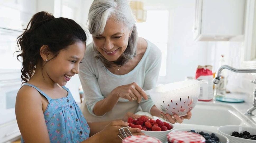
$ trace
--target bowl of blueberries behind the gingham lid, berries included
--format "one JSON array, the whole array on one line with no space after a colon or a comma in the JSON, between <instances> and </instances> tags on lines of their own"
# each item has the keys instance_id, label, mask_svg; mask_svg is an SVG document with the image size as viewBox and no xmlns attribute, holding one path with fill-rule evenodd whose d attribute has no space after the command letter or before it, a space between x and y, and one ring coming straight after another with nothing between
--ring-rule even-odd
<instances>
[{"instance_id":1,"label":"bowl of blueberries behind the gingham lid, berries included","mask_svg":"<svg viewBox=\"0 0 256 143\"><path fill-rule=\"evenodd\" d=\"M175 129L174 131L189 131L193 133L197 133L199 135L202 135L205 139L205 143L229 143L229 139L220 134L209 130L203 130L203 129L191 129L191 128L181 128L181 129Z\"/></svg>"}]
</instances>

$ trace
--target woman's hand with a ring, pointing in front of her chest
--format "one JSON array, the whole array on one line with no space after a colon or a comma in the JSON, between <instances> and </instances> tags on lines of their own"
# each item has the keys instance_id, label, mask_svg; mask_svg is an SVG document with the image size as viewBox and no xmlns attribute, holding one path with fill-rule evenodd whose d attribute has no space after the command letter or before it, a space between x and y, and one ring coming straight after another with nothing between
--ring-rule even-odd
<instances>
[{"instance_id":1,"label":"woman's hand with a ring, pointing in front of her chest","mask_svg":"<svg viewBox=\"0 0 256 143\"><path fill-rule=\"evenodd\" d=\"M137 100L141 102L141 98L148 99L147 94L144 90L138 86L135 82L123 86L118 86L112 92L112 94L128 99L129 101Z\"/></svg>"}]
</instances>

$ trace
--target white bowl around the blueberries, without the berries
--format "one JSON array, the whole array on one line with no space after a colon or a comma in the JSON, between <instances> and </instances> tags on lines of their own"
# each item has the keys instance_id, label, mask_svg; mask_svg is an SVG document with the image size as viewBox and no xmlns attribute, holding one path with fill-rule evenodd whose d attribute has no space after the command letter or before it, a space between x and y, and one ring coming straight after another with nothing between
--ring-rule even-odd
<instances>
[{"instance_id":1,"label":"white bowl around the blueberries, without the berries","mask_svg":"<svg viewBox=\"0 0 256 143\"><path fill-rule=\"evenodd\" d=\"M203 131L204 133L208 133L208 134L210 134L211 135L211 133L214 133L217 137L219 137L219 142L222 142L222 143L229 143L229 139L226 137L226 136L224 136L224 135L222 135L222 134L220 134L220 133L216 133L216 132L214 132L214 131L209 131L209 130L202 130L202 129L192 129L192 128L181 128L181 129L175 129L175 130L172 130L171 132L174 132L174 131L190 131L190 130L195 130L196 131L196 133L198 132L201 132L201 131ZM233 142L232 142L233 143ZM242 143L242 142L241 142Z\"/></svg>"}]
</instances>

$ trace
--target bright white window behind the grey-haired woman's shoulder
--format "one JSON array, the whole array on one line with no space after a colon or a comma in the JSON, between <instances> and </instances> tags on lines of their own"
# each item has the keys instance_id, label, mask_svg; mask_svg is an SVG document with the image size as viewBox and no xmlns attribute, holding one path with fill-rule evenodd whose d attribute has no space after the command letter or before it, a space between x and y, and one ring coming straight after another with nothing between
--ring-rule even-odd
<instances>
[{"instance_id":1,"label":"bright white window behind the grey-haired woman's shoulder","mask_svg":"<svg viewBox=\"0 0 256 143\"><path fill-rule=\"evenodd\" d=\"M136 23L138 36L154 43L162 52L159 76L166 76L168 21L168 10L148 10L147 21L144 23Z\"/></svg>"}]
</instances>

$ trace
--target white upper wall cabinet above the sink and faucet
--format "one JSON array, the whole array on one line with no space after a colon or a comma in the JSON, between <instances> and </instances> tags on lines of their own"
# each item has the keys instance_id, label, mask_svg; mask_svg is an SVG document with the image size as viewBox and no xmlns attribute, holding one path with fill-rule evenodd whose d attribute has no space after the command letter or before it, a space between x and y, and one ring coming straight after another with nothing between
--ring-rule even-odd
<instances>
[{"instance_id":1,"label":"white upper wall cabinet above the sink and faucet","mask_svg":"<svg viewBox=\"0 0 256 143\"><path fill-rule=\"evenodd\" d=\"M196 0L196 41L243 40L245 0Z\"/></svg>"}]
</instances>

